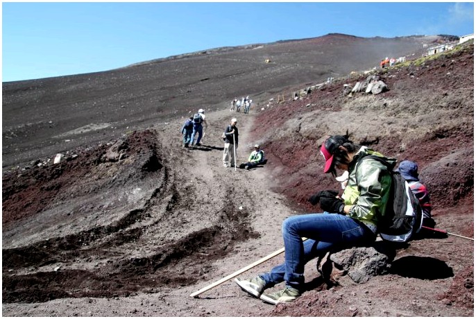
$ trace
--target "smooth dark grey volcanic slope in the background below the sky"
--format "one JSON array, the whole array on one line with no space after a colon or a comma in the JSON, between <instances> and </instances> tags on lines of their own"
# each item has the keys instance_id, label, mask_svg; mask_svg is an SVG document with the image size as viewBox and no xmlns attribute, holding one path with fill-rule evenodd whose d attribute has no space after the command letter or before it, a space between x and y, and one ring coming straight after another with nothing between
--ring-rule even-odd
<instances>
[{"instance_id":1,"label":"smooth dark grey volcanic slope in the background below the sky","mask_svg":"<svg viewBox=\"0 0 476 319\"><path fill-rule=\"evenodd\" d=\"M445 37L362 38L330 34L211 49L122 69L2 83L2 168L170 123L200 107L223 110L253 96L261 108L287 87L378 66ZM271 60L266 63L265 60Z\"/></svg>"}]
</instances>

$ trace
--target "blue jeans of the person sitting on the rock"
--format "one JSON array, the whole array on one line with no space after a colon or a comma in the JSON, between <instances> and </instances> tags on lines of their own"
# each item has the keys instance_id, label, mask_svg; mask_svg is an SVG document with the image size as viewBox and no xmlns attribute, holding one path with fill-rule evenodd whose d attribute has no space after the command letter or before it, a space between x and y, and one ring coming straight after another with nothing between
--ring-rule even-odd
<instances>
[{"instance_id":1,"label":"blue jeans of the person sitting on the rock","mask_svg":"<svg viewBox=\"0 0 476 319\"><path fill-rule=\"evenodd\" d=\"M301 237L307 237L302 241ZM284 264L260 275L266 288L286 281L287 286L302 291L304 265L325 255L331 249L366 245L375 241L375 234L354 218L339 214L306 214L291 216L282 223Z\"/></svg>"}]
</instances>

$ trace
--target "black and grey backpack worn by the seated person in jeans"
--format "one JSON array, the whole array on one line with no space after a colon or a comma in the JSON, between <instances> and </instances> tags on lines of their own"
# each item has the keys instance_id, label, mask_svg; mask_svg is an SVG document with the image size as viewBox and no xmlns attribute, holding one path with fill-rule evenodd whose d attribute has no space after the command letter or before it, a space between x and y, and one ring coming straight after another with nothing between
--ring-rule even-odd
<instances>
[{"instance_id":1,"label":"black and grey backpack worn by the seated person in jeans","mask_svg":"<svg viewBox=\"0 0 476 319\"><path fill-rule=\"evenodd\" d=\"M423 213L420 202L411 191L407 180L398 171L393 171L391 164L386 162L384 158L367 155L362 157L362 160L365 158L371 158L384 164L391 176L389 202L386 205L385 212L382 212L382 216L379 216L377 225L380 236L386 241L405 243L421 229ZM362 160L357 163L357 166ZM356 170L357 166L355 167Z\"/></svg>"}]
</instances>

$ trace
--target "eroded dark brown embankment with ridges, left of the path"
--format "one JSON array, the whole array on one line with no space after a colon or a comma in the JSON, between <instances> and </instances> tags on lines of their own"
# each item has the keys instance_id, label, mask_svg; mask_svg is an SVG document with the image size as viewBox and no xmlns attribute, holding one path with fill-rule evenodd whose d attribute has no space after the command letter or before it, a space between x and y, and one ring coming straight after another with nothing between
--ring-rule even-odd
<instances>
[{"instance_id":1,"label":"eroded dark brown embankment with ridges, left of the path","mask_svg":"<svg viewBox=\"0 0 476 319\"><path fill-rule=\"evenodd\" d=\"M110 216L103 219L108 222L83 225L65 236L37 238L28 245L10 243L2 250L3 302L111 298L193 284L211 270L207 261L228 254L239 241L258 236L250 228L246 209L235 208L232 199L224 197L221 205L209 209L213 223L179 239L167 239L165 234L178 222L173 219L193 210L198 204L190 198L200 197L197 187L177 180L168 154L157 133L146 130L84 150L60 164L4 175L3 224L10 232L60 205L78 189L114 196L114 191L121 193L132 184L154 183L150 192L144 192L148 197L137 200L144 203L140 207L102 212ZM226 193L235 193L232 185L228 188ZM22 200L30 196L37 199ZM99 214L94 211L98 205L86 206L85 223L88 214Z\"/></svg>"}]
</instances>

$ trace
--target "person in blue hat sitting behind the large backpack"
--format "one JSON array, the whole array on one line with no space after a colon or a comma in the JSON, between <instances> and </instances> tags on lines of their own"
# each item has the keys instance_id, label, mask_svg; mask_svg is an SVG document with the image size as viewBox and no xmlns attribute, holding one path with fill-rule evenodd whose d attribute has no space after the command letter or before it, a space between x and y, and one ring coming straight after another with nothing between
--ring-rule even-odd
<instances>
[{"instance_id":1,"label":"person in blue hat sitting behind the large backpack","mask_svg":"<svg viewBox=\"0 0 476 319\"><path fill-rule=\"evenodd\" d=\"M430 195L428 194L427 187L420 182L418 178L418 165L411 161L402 161L398 166L400 175L407 180L411 191L420 202L420 206L423 212L423 226L434 228L436 225L432 218L432 204L430 204ZM424 229L422 229L424 230Z\"/></svg>"}]
</instances>

